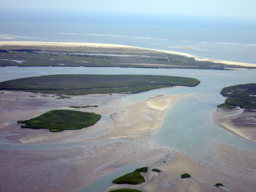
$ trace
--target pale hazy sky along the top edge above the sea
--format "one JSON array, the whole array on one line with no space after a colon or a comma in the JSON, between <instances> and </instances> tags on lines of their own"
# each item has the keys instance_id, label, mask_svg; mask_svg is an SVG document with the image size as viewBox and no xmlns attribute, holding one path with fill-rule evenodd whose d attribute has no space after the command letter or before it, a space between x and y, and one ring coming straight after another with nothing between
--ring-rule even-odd
<instances>
[{"instance_id":1,"label":"pale hazy sky along the top edge above the sea","mask_svg":"<svg viewBox=\"0 0 256 192\"><path fill-rule=\"evenodd\" d=\"M1 10L62 10L135 15L256 19L256 0L0 0Z\"/></svg>"}]
</instances>

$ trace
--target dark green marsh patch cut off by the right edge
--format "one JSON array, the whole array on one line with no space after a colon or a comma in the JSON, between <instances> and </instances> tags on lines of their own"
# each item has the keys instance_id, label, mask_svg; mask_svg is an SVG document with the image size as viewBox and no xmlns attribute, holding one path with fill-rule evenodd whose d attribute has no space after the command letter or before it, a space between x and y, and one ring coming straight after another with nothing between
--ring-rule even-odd
<instances>
[{"instance_id":1,"label":"dark green marsh patch cut off by the right edge","mask_svg":"<svg viewBox=\"0 0 256 192\"><path fill-rule=\"evenodd\" d=\"M256 108L256 83L239 84L225 87L221 94L226 96L225 104L241 108Z\"/></svg>"}]
</instances>

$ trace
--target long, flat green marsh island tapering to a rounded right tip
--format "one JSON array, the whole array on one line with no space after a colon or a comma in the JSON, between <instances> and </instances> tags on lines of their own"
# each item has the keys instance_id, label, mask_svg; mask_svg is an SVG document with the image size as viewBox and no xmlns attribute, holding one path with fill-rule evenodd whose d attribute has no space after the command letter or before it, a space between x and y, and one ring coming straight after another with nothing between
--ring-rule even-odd
<instances>
[{"instance_id":1,"label":"long, flat green marsh island tapering to a rounded right tip","mask_svg":"<svg viewBox=\"0 0 256 192\"><path fill-rule=\"evenodd\" d=\"M193 87L198 79L154 75L49 75L15 79L0 83L1 90L67 95L140 93L175 85ZM63 97L63 96L61 96Z\"/></svg>"}]
</instances>

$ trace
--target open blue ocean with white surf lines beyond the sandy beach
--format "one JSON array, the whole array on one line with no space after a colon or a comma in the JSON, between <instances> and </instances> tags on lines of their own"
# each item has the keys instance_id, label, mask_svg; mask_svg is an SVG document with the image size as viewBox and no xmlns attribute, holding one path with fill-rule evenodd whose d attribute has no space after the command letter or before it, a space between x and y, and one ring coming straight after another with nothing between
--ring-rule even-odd
<instances>
[{"instance_id":1,"label":"open blue ocean with white surf lines beyond the sandy beach","mask_svg":"<svg viewBox=\"0 0 256 192\"><path fill-rule=\"evenodd\" d=\"M188 21L189 22L189 21ZM0 21L0 41L50 41L122 44L149 49L186 52L197 57L256 64L256 24L202 26L183 20L165 22L50 23ZM221 23L221 22L219 22Z\"/></svg>"}]
</instances>

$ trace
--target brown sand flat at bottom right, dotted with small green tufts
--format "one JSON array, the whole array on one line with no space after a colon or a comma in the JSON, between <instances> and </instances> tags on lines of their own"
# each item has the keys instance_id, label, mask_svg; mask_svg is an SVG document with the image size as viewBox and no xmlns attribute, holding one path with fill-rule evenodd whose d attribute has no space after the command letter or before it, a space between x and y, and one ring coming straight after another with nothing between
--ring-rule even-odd
<instances>
[{"instance_id":1,"label":"brown sand flat at bottom right, dotted with small green tufts","mask_svg":"<svg viewBox=\"0 0 256 192\"><path fill-rule=\"evenodd\" d=\"M196 160L185 153L169 149L169 154L149 165L147 173L142 173L144 183L137 185L112 183L104 192L114 189L138 189L142 192L253 192L256 189L256 153L243 151L232 145L215 143L212 150L218 155L219 165ZM231 152L231 151L232 152ZM227 154L225 154L228 152ZM232 154L233 153L233 154ZM230 155L230 156L229 156ZM239 155L240 158L237 158ZM223 157L226 157L222 160ZM249 157L248 160L245 158ZM239 169L234 169L239 167ZM159 169L160 172L152 172L152 169ZM181 179L180 175L189 173L192 177ZM223 183L224 186L214 187L216 183Z\"/></svg>"}]
</instances>

